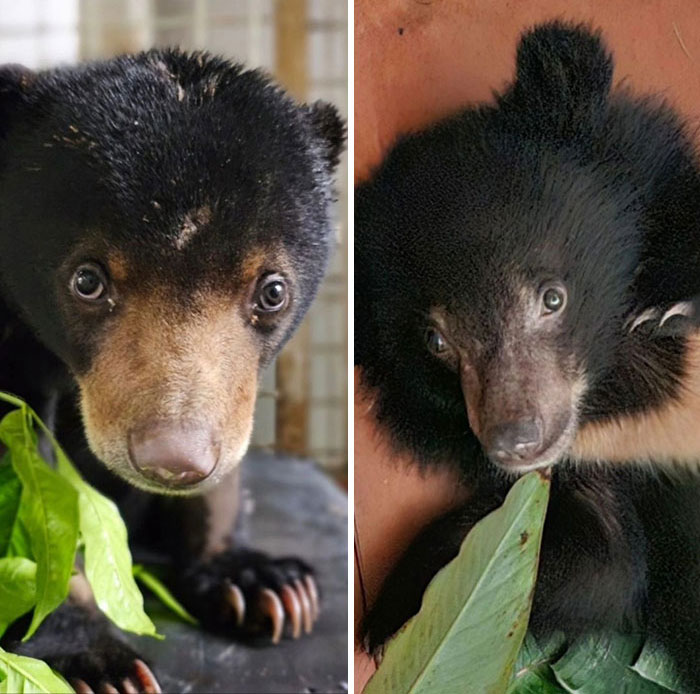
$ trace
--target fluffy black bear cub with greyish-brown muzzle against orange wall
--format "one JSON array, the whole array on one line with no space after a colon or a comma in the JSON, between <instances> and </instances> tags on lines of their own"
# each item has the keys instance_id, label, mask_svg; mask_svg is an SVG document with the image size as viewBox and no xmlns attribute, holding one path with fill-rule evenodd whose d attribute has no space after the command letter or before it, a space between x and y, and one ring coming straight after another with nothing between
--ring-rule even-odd
<instances>
[{"instance_id":1,"label":"fluffy black bear cub with greyish-brown muzzle against orange wall","mask_svg":"<svg viewBox=\"0 0 700 694\"><path fill-rule=\"evenodd\" d=\"M367 643L515 475L554 465L531 627L642 632L697 688L700 166L670 108L612 89L587 28L526 33L516 73L356 194L367 397L396 446L473 491L387 579Z\"/></svg>"}]
</instances>

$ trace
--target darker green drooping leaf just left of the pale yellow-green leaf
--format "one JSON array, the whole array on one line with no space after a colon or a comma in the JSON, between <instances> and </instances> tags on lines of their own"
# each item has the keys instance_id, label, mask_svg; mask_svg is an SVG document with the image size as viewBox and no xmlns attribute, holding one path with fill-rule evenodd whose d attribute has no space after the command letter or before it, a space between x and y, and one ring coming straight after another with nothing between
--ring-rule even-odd
<instances>
[{"instance_id":1,"label":"darker green drooping leaf just left of the pale yellow-green leaf","mask_svg":"<svg viewBox=\"0 0 700 694\"><path fill-rule=\"evenodd\" d=\"M8 447L22 482L20 517L37 564L36 607L26 640L68 595L78 542L78 498L71 485L39 456L24 410L3 418L0 440Z\"/></svg>"}]
</instances>

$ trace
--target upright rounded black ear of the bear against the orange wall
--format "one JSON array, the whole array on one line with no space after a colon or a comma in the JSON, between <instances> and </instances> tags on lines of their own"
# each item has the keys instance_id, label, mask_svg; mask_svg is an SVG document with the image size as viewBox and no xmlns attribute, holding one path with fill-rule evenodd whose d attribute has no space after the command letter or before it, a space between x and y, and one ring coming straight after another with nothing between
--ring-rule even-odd
<instances>
[{"instance_id":1,"label":"upright rounded black ear of the bear against the orange wall","mask_svg":"<svg viewBox=\"0 0 700 694\"><path fill-rule=\"evenodd\" d=\"M613 60L585 25L555 21L531 29L518 46L513 96L544 109L602 106L612 85Z\"/></svg>"}]
</instances>

